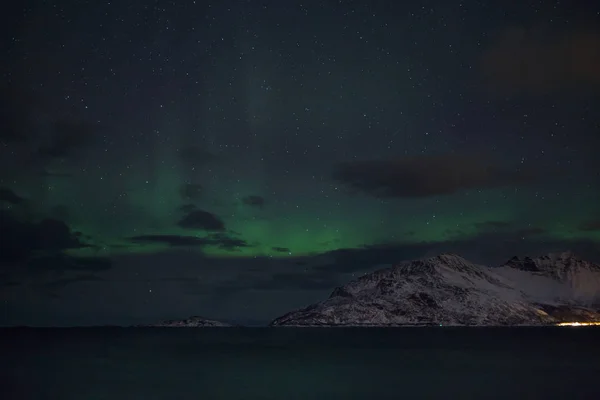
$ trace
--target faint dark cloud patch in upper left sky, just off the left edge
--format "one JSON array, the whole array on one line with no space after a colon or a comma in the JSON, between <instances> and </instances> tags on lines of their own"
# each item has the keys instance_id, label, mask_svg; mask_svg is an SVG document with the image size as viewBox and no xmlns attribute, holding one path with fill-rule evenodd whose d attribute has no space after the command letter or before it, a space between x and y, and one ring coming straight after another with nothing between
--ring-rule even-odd
<instances>
[{"instance_id":1,"label":"faint dark cloud patch in upper left sky, just off the left edge","mask_svg":"<svg viewBox=\"0 0 600 400\"><path fill-rule=\"evenodd\" d=\"M43 158L71 158L90 144L101 127L84 121L60 120L52 127L49 143L40 147L38 153Z\"/></svg>"}]
</instances>

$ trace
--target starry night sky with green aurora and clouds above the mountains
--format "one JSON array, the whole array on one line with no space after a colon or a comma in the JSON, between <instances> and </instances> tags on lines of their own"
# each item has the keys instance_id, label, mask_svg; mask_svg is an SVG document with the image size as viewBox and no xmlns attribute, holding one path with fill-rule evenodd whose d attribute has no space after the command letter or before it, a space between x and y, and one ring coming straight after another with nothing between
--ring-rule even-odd
<instances>
[{"instance_id":1,"label":"starry night sky with green aurora and clouds above the mountains","mask_svg":"<svg viewBox=\"0 0 600 400\"><path fill-rule=\"evenodd\" d=\"M0 324L261 324L446 251L599 261L600 4L404 3L5 10Z\"/></svg>"}]
</instances>

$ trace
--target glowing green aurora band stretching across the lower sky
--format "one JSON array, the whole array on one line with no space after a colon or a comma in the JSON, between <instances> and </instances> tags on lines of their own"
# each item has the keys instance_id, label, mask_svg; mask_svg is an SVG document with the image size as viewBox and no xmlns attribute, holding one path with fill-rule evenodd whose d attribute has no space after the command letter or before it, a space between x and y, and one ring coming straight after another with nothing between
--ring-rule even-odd
<instances>
[{"instance_id":1,"label":"glowing green aurora band stretching across the lower sky","mask_svg":"<svg viewBox=\"0 0 600 400\"><path fill-rule=\"evenodd\" d=\"M94 248L72 251L78 255L154 253L170 247L160 243L134 243L130 237L177 235L206 237L202 230L182 229L177 221L184 215L178 208L191 200L181 197L181 185L199 183L185 177L174 157L161 155L160 166L132 163L116 176L46 178L42 183L21 182L17 190L32 202L38 218L54 215L56 206L68 210L66 221L82 232ZM258 175L263 174L261 171ZM594 193L578 203L565 204L556 196L544 203L533 201L525 190L510 193L488 190L426 199L395 199L381 202L366 196L322 198L316 190L306 195L271 197L261 176L244 180L208 180L206 193L194 203L225 222L228 237L246 241L248 247L231 249L203 246L211 256L290 257L359 248L383 243L420 243L468 240L481 233L486 222L505 223L508 231L537 228L539 240L592 240L600 232L579 229L581 221L594 215ZM307 185L306 183L304 183ZM308 186L308 185L307 185ZM312 188L314 189L314 188ZM302 187L299 189L302 193ZM265 196L263 208L243 204L244 196ZM540 206L542 204L543 206ZM568 212L559 212L559 210ZM500 228L501 229L501 228ZM289 249L289 251L287 251Z\"/></svg>"}]
</instances>

